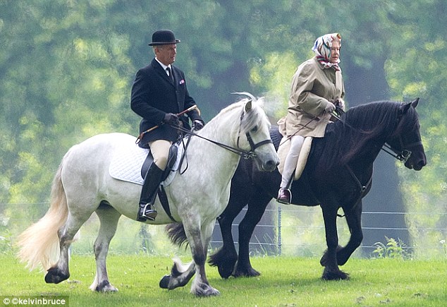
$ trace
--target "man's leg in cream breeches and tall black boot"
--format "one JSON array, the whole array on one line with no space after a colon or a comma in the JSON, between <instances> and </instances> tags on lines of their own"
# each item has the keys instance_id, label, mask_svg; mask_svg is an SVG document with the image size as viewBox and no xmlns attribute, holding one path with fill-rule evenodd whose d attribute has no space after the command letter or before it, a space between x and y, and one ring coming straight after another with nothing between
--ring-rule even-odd
<instances>
[{"instance_id":1,"label":"man's leg in cream breeches and tall black boot","mask_svg":"<svg viewBox=\"0 0 447 307\"><path fill-rule=\"evenodd\" d=\"M149 143L149 147L154 157L154 162L147 170L145 182L142 186L137 214L137 221L140 222L145 222L146 219L153 221L157 217L154 200L161 182L161 176L163 176L164 169L166 169L166 164L168 163L171 142L168 140L155 140Z\"/></svg>"}]
</instances>

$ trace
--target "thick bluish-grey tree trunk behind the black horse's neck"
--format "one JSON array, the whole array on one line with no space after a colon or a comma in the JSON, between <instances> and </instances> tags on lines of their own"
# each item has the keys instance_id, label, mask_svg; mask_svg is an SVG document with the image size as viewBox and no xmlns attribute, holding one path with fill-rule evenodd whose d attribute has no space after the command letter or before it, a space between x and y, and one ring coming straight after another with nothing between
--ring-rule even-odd
<instances>
[{"instance_id":1,"label":"thick bluish-grey tree trunk behind the black horse's neck","mask_svg":"<svg viewBox=\"0 0 447 307\"><path fill-rule=\"evenodd\" d=\"M376 100L389 100L389 89L384 71L385 59L375 59L372 68L362 69L349 66L353 61L343 61L343 76L345 77L346 98L350 107ZM402 195L400 194L396 159L380 154L374 162L372 189L363 199L363 212L405 212ZM371 255L374 243L386 244L386 237L400 239L410 246L410 234L403 214L362 215L364 239L362 253Z\"/></svg>"}]
</instances>

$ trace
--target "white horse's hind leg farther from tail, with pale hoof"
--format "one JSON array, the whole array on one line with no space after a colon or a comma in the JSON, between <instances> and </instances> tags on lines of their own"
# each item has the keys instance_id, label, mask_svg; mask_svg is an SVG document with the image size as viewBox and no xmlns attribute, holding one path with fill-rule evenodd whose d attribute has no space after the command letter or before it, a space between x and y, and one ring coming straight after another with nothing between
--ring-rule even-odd
<instances>
[{"instance_id":1,"label":"white horse's hind leg farther from tail, with pale hoof","mask_svg":"<svg viewBox=\"0 0 447 307\"><path fill-rule=\"evenodd\" d=\"M114 237L118 220L121 214L110 205L102 204L96 210L99 217L99 233L96 241L94 241L94 257L96 260L96 275L90 286L92 291L114 292L118 291L116 287L109 282L107 275L106 258L109 252L109 244Z\"/></svg>"}]
</instances>

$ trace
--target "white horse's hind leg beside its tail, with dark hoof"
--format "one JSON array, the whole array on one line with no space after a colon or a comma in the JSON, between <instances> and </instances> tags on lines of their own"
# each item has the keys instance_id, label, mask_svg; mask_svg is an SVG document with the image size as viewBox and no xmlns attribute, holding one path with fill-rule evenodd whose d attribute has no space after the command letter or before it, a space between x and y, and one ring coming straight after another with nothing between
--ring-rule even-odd
<instances>
[{"instance_id":1,"label":"white horse's hind leg beside its tail, with dark hoof","mask_svg":"<svg viewBox=\"0 0 447 307\"><path fill-rule=\"evenodd\" d=\"M73 242L75 234L78 232L82 224L84 224L90 217L88 215L74 216L71 212L68 212L67 222L58 231L59 236L59 260L55 265L47 270L47 275L45 275L45 282L47 284L59 284L70 277L70 272L68 270L69 262L69 248Z\"/></svg>"}]
</instances>

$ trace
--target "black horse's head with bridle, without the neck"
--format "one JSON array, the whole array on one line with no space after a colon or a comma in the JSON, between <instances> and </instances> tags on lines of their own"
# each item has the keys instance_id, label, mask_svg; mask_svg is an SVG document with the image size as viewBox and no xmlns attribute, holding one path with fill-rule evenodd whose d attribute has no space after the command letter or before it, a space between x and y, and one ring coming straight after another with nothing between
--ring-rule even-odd
<instances>
[{"instance_id":1,"label":"black horse's head with bridle, without the neck","mask_svg":"<svg viewBox=\"0 0 447 307\"><path fill-rule=\"evenodd\" d=\"M420 135L420 124L415 108L419 98L413 102L400 104L394 133L386 143L396 152L398 159L405 161L405 167L420 171L427 164L424 145Z\"/></svg>"}]
</instances>

